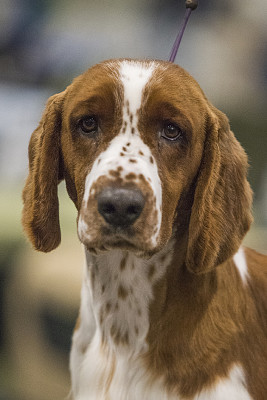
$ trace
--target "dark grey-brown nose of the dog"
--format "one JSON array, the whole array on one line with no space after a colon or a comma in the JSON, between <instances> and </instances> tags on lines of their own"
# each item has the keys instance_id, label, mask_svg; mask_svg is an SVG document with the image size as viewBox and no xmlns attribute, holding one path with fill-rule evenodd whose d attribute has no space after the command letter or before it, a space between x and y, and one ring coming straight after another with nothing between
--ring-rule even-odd
<instances>
[{"instance_id":1,"label":"dark grey-brown nose of the dog","mask_svg":"<svg viewBox=\"0 0 267 400\"><path fill-rule=\"evenodd\" d=\"M97 201L99 213L116 227L132 225L145 205L145 198L138 189L107 187L100 192Z\"/></svg>"}]
</instances>

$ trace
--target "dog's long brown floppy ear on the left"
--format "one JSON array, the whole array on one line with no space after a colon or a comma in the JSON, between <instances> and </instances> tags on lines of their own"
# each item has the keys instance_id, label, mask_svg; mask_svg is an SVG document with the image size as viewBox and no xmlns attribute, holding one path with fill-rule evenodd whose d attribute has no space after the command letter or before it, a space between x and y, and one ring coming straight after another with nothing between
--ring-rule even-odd
<instances>
[{"instance_id":1,"label":"dog's long brown floppy ear on the left","mask_svg":"<svg viewBox=\"0 0 267 400\"><path fill-rule=\"evenodd\" d=\"M36 250L48 252L61 240L57 185L64 92L50 97L29 144L29 175L23 190L23 228ZM61 167L60 167L61 166Z\"/></svg>"}]
</instances>

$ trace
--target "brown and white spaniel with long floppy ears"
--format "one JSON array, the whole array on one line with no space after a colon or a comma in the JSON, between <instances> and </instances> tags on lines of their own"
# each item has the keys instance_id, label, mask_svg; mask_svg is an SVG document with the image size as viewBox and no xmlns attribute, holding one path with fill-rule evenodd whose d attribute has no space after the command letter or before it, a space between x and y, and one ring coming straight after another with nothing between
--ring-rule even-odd
<instances>
[{"instance_id":1,"label":"brown and white spaniel with long floppy ears","mask_svg":"<svg viewBox=\"0 0 267 400\"><path fill-rule=\"evenodd\" d=\"M59 245L64 179L86 255L73 399L266 399L247 168L227 117L173 63L105 61L49 99L22 222L35 249Z\"/></svg>"}]
</instances>

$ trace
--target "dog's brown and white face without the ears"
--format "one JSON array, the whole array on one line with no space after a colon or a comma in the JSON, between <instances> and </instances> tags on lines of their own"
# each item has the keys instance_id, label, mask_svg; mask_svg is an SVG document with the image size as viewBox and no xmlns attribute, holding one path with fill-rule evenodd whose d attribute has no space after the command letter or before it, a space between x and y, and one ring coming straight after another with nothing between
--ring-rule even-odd
<instances>
[{"instance_id":1,"label":"dog's brown and white face without the ears","mask_svg":"<svg viewBox=\"0 0 267 400\"><path fill-rule=\"evenodd\" d=\"M207 115L199 88L174 70L106 63L66 97L63 158L78 194L79 237L90 249L150 253L172 234L201 161Z\"/></svg>"}]
</instances>

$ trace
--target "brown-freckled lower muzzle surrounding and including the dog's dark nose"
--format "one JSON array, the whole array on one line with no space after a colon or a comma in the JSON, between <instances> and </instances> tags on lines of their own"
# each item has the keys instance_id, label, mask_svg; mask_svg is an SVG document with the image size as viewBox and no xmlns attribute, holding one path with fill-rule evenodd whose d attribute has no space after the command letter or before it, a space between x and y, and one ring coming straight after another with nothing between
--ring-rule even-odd
<instances>
[{"instance_id":1,"label":"brown-freckled lower muzzle surrounding and including the dog's dark nose","mask_svg":"<svg viewBox=\"0 0 267 400\"><path fill-rule=\"evenodd\" d=\"M142 174L100 176L82 203L78 233L88 250L151 252L158 217L155 194Z\"/></svg>"}]
</instances>

